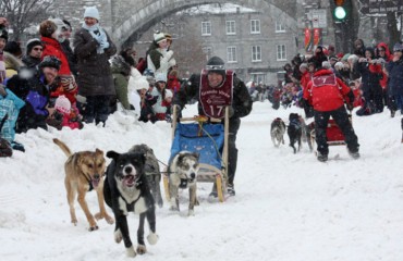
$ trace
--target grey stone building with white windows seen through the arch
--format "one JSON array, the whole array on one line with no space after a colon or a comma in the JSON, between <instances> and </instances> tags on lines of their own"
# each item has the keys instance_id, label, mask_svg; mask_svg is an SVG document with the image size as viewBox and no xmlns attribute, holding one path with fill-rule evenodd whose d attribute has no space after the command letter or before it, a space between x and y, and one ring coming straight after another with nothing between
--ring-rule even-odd
<instances>
[{"instance_id":1,"label":"grey stone building with white windows seen through the arch","mask_svg":"<svg viewBox=\"0 0 403 261\"><path fill-rule=\"evenodd\" d=\"M181 66L190 73L198 72L211 55L218 55L245 82L276 84L283 65L298 50L296 20L276 7L262 12L235 4L208 4L179 12L143 35L136 45L141 55L154 30L173 35L176 52L186 51L182 42L188 45L192 39L194 50L187 55L195 55L192 64L197 67ZM204 53L202 62L197 52ZM176 61L181 63L178 57Z\"/></svg>"}]
</instances>

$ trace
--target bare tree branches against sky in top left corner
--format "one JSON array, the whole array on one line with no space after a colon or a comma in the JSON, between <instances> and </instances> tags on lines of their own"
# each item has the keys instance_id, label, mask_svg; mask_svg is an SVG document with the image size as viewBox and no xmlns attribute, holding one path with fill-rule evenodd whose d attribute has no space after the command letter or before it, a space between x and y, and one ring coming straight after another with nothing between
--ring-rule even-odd
<instances>
[{"instance_id":1,"label":"bare tree branches against sky in top left corner","mask_svg":"<svg viewBox=\"0 0 403 261\"><path fill-rule=\"evenodd\" d=\"M13 39L20 40L25 28L48 17L54 0L1 0L0 14L7 17Z\"/></svg>"}]
</instances>

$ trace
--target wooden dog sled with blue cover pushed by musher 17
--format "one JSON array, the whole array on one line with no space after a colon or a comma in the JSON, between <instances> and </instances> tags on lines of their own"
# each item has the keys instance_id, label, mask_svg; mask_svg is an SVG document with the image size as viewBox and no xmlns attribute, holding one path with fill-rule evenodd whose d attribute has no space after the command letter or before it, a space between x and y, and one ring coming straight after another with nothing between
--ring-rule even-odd
<instances>
[{"instance_id":1,"label":"wooden dog sled with blue cover pushed by musher 17","mask_svg":"<svg viewBox=\"0 0 403 261\"><path fill-rule=\"evenodd\" d=\"M176 105L173 107L171 159L180 151L199 154L197 183L216 183L220 202L224 201L228 170L229 109L224 110L224 120L207 116L181 117L178 120ZM163 187L166 198L170 200L169 173L164 172Z\"/></svg>"}]
</instances>

